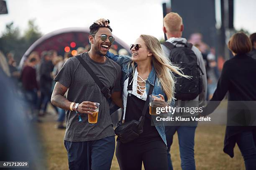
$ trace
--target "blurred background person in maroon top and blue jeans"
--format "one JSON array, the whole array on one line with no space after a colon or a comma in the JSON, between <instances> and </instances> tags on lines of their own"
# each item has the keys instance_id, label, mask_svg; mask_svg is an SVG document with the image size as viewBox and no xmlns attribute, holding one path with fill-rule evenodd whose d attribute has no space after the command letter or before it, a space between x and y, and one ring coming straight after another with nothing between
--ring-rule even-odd
<instances>
[{"instance_id":1,"label":"blurred background person in maroon top and blue jeans","mask_svg":"<svg viewBox=\"0 0 256 170\"><path fill-rule=\"evenodd\" d=\"M30 106L30 111L28 113L30 120L41 122L38 119L38 84L36 81L36 69L35 66L38 64L36 58L30 58L26 66L21 72L21 81L24 90L24 96Z\"/></svg>"}]
</instances>

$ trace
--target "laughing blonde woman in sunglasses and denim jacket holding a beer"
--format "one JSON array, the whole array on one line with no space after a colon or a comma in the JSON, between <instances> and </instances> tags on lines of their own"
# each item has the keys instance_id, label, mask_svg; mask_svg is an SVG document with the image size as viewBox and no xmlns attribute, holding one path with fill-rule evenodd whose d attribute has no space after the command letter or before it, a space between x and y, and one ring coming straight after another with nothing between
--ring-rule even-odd
<instances>
[{"instance_id":1,"label":"laughing blonde woman in sunglasses and denim jacket holding a beer","mask_svg":"<svg viewBox=\"0 0 256 170\"><path fill-rule=\"evenodd\" d=\"M100 19L96 23L104 25L107 22ZM141 117L151 85L154 86L152 94L161 96L154 100L159 107L173 105L172 72L184 76L179 72L179 68L173 66L165 57L156 37L141 35L131 45L131 53L131 57L107 53L107 57L117 62L122 69L123 122L138 120ZM155 118L149 114L148 109L143 133L138 138L128 143L122 143L117 139L116 157L121 170L141 170L142 162L146 170L167 169L164 123ZM152 126L151 119L154 122Z\"/></svg>"}]
</instances>

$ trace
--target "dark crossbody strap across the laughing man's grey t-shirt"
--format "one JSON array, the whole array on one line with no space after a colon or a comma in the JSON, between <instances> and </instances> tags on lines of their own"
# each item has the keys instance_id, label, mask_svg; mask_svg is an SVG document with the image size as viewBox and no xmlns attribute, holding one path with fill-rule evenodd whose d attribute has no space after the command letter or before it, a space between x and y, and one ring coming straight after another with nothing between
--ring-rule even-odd
<instances>
[{"instance_id":1,"label":"dark crossbody strap across the laughing man's grey t-shirt","mask_svg":"<svg viewBox=\"0 0 256 170\"><path fill-rule=\"evenodd\" d=\"M97 77L97 75L95 75L95 73L92 71L91 67L82 59L82 57L80 55L77 55L76 58L82 64L84 69L87 70L87 72L91 75L91 77L93 78L95 83L100 87L100 91L102 92L102 94L107 99L110 98L110 90L108 89L108 87L106 87L105 85L102 84L99 77Z\"/></svg>"}]
</instances>

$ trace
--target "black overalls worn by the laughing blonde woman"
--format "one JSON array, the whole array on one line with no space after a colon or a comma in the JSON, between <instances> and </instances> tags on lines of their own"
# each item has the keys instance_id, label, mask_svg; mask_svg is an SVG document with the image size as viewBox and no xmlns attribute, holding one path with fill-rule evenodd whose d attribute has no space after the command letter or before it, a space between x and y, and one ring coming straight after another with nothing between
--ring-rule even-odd
<instances>
[{"instance_id":1,"label":"black overalls worn by the laughing blonde woman","mask_svg":"<svg viewBox=\"0 0 256 170\"><path fill-rule=\"evenodd\" d=\"M131 94L133 90L132 80L133 77L130 76L127 87L128 96L125 122L139 120L146 102ZM121 143L120 140L117 139L115 155L120 170L141 170L142 161L145 170L167 170L166 145L156 130L156 127L154 125L151 126L149 108L145 115L143 133L129 143Z\"/></svg>"}]
</instances>

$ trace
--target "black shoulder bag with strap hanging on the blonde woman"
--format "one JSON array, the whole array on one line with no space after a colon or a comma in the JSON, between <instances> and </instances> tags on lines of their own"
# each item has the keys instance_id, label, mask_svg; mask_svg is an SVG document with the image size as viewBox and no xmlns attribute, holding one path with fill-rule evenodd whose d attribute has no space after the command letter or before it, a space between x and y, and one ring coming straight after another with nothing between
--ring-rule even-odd
<instances>
[{"instance_id":1,"label":"black shoulder bag with strap hanging on the blonde woman","mask_svg":"<svg viewBox=\"0 0 256 170\"><path fill-rule=\"evenodd\" d=\"M129 80L131 78L132 77L129 77ZM155 76L155 80L156 80L156 76ZM128 82L128 86L129 86L129 82ZM154 89L154 86L150 85L147 100L145 102L145 105L144 105L143 111L142 111L142 115L139 118L139 120L131 120L130 122L122 123L122 119L123 119L123 114L122 114L121 120L117 123L116 128L115 128L115 134L118 136L118 138L120 139L120 141L122 143L131 142L132 140L138 138L138 136L141 133L143 133L143 125L144 125L145 115L146 115L146 111L147 111L148 104L149 104L149 95L152 94L153 89ZM130 89L130 90L132 90L132 89Z\"/></svg>"}]
</instances>

